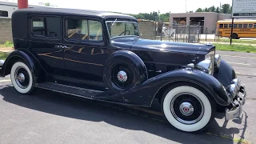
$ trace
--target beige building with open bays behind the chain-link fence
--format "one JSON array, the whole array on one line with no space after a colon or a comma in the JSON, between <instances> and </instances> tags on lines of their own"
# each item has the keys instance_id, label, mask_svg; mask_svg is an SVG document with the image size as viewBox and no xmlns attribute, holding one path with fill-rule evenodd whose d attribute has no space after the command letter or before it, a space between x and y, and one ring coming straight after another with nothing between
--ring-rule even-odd
<instances>
[{"instance_id":1,"label":"beige building with open bays behind the chain-link fence","mask_svg":"<svg viewBox=\"0 0 256 144\"><path fill-rule=\"evenodd\" d=\"M218 20L230 18L230 14L218 14L214 12L170 14L170 26L178 23L183 23L185 25L200 24L200 26L202 26L201 34L214 34Z\"/></svg>"}]
</instances>

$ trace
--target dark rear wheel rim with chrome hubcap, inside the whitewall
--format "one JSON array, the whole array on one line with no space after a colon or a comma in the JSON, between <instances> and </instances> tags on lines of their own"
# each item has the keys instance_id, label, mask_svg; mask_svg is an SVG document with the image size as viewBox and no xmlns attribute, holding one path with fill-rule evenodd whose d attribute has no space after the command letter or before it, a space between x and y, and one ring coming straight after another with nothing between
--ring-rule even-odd
<instances>
[{"instance_id":1,"label":"dark rear wheel rim with chrome hubcap, inside the whitewall","mask_svg":"<svg viewBox=\"0 0 256 144\"><path fill-rule=\"evenodd\" d=\"M15 70L14 79L17 85L22 89L26 89L30 84L30 76L26 69L22 66L19 66Z\"/></svg>"}]
</instances>

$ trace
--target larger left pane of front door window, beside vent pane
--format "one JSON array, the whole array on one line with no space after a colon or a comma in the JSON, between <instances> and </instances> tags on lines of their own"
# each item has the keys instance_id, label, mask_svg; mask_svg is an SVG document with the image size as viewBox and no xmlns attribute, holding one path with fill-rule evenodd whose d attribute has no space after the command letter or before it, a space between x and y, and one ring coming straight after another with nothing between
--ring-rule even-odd
<instances>
[{"instance_id":1,"label":"larger left pane of front door window, beside vent pane","mask_svg":"<svg viewBox=\"0 0 256 144\"><path fill-rule=\"evenodd\" d=\"M88 39L88 21L74 18L68 19L67 38L78 40Z\"/></svg>"}]
</instances>

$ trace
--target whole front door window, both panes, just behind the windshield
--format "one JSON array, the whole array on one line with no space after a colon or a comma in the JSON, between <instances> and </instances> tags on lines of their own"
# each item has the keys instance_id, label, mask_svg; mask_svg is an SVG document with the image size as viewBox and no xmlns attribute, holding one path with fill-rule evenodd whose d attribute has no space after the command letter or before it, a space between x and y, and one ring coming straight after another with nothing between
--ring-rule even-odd
<instances>
[{"instance_id":1,"label":"whole front door window, both panes, just behind the windshield","mask_svg":"<svg viewBox=\"0 0 256 144\"><path fill-rule=\"evenodd\" d=\"M102 23L86 19L67 19L67 38L77 40L102 40Z\"/></svg>"}]
</instances>

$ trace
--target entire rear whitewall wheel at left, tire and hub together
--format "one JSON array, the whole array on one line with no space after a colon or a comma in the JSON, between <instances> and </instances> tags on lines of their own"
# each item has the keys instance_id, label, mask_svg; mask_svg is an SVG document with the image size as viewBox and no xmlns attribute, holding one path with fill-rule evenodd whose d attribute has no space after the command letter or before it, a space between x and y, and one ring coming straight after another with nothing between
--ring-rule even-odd
<instances>
[{"instance_id":1,"label":"entire rear whitewall wheel at left, tire and hub together","mask_svg":"<svg viewBox=\"0 0 256 144\"><path fill-rule=\"evenodd\" d=\"M15 62L10 70L11 82L19 93L30 94L34 90L34 75L24 62Z\"/></svg>"}]
</instances>

